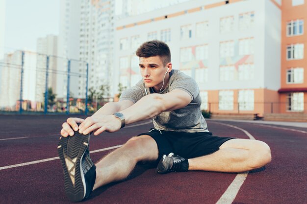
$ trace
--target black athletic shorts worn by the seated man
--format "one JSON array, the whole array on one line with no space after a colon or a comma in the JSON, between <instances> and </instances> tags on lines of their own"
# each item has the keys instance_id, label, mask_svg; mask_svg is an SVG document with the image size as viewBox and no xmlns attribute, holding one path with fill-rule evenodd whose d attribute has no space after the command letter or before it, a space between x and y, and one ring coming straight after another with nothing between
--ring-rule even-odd
<instances>
[{"instance_id":1,"label":"black athletic shorts worn by the seated man","mask_svg":"<svg viewBox=\"0 0 307 204\"><path fill-rule=\"evenodd\" d=\"M233 137L212 136L211 132L184 133L161 130L161 133L158 130L153 130L138 135L153 137L159 151L156 162L159 162L163 155L168 155L171 152L185 159L209 155L219 150L219 147L227 140L234 139Z\"/></svg>"}]
</instances>

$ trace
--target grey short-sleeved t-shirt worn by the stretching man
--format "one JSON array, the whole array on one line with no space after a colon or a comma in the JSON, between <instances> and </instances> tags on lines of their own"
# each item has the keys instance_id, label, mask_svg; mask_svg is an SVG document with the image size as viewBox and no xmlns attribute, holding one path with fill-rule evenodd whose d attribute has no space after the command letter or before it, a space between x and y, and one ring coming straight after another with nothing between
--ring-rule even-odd
<instances>
[{"instance_id":1,"label":"grey short-sleeved t-shirt worn by the stretching man","mask_svg":"<svg viewBox=\"0 0 307 204\"><path fill-rule=\"evenodd\" d=\"M153 117L156 122L154 128L159 130L180 131L180 132L209 132L205 118L201 112L202 99L199 88L193 78L183 72L173 69L170 72L168 86L161 94L179 89L186 91L191 96L191 103L186 107L174 111L167 111ZM145 91L146 90L146 91ZM130 100L136 103L147 94L153 93L152 89L145 87L143 80L140 80L134 87L124 91L120 97L122 100Z\"/></svg>"}]
</instances>

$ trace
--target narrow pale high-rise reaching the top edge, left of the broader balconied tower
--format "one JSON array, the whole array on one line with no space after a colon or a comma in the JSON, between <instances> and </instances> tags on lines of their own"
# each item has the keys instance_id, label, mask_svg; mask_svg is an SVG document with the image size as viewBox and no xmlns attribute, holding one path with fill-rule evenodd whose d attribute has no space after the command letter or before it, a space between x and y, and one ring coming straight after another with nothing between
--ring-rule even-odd
<instances>
[{"instance_id":1,"label":"narrow pale high-rise reaching the top edge, left of the broader balconied tower","mask_svg":"<svg viewBox=\"0 0 307 204\"><path fill-rule=\"evenodd\" d=\"M60 1L60 29L58 36L57 55L57 86L55 93L57 98L66 100L67 96L67 72L70 62L70 72L78 73L79 65L79 37L80 37L80 15L81 0L61 0ZM77 74L75 74L77 75ZM70 92L75 96L78 90L78 80L70 79Z\"/></svg>"}]
</instances>

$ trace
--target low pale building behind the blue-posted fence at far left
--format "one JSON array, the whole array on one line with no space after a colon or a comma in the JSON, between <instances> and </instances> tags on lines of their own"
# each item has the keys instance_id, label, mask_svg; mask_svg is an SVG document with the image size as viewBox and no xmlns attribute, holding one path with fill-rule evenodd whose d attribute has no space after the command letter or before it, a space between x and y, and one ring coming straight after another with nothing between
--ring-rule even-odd
<instances>
[{"instance_id":1,"label":"low pale building behind the blue-posted fence at far left","mask_svg":"<svg viewBox=\"0 0 307 204\"><path fill-rule=\"evenodd\" d=\"M24 62L24 63L22 63ZM0 110L16 111L17 101L21 96L21 79L22 65L23 86L22 100L31 101L31 109L36 108L35 92L36 92L36 53L17 50L4 55L2 67L2 76L0 80Z\"/></svg>"}]
</instances>

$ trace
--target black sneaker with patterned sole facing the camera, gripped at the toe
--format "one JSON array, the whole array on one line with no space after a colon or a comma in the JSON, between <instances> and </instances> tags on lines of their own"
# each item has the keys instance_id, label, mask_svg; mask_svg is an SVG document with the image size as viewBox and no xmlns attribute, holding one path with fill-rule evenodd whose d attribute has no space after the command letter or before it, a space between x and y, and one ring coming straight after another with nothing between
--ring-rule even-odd
<instances>
[{"instance_id":1,"label":"black sneaker with patterned sole facing the camera, gripped at the toe","mask_svg":"<svg viewBox=\"0 0 307 204\"><path fill-rule=\"evenodd\" d=\"M72 202L89 197L96 180L96 166L90 158L90 134L75 132L74 136L60 137L57 151L64 171L66 196Z\"/></svg>"}]
</instances>

